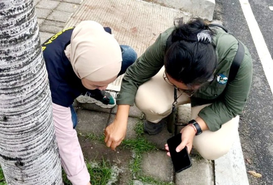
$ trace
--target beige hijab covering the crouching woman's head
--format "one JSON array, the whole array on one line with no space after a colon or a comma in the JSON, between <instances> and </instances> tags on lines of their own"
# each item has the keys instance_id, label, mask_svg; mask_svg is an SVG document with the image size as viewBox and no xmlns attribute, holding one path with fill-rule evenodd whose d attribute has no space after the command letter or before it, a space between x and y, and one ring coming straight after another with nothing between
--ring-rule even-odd
<instances>
[{"instance_id":1,"label":"beige hijab covering the crouching woman's head","mask_svg":"<svg viewBox=\"0 0 273 185\"><path fill-rule=\"evenodd\" d=\"M121 50L113 35L95 21L82 21L73 30L64 50L80 78L93 82L110 80L121 68Z\"/></svg>"}]
</instances>

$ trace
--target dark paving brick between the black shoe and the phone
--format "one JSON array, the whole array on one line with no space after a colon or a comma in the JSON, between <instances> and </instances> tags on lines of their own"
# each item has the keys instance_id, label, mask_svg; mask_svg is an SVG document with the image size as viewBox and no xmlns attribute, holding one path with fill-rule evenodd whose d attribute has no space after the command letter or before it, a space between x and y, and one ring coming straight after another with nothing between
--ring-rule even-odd
<instances>
[{"instance_id":1,"label":"dark paving brick between the black shoe and the phone","mask_svg":"<svg viewBox=\"0 0 273 185\"><path fill-rule=\"evenodd\" d=\"M165 144L167 143L167 140L172 136L173 134L169 133L169 131L167 130L167 126L165 126L163 131L161 131L157 135L144 134L144 137L148 141L151 141L160 150L165 150Z\"/></svg>"}]
</instances>

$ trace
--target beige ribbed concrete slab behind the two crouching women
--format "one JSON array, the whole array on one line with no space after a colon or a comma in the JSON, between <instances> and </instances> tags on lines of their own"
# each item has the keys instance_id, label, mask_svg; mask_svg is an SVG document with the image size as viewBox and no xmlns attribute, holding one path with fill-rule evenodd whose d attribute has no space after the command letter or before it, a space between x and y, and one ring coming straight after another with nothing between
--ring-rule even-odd
<instances>
[{"instance_id":1,"label":"beige ribbed concrete slab behind the two crouching women","mask_svg":"<svg viewBox=\"0 0 273 185\"><path fill-rule=\"evenodd\" d=\"M136 0L84 1L66 27L82 20L94 20L108 26L120 44L130 45L140 56L157 39L159 33L173 26L174 18L190 17L179 10ZM122 76L112 83L112 89L120 89ZM108 89L111 86L109 85Z\"/></svg>"}]
</instances>

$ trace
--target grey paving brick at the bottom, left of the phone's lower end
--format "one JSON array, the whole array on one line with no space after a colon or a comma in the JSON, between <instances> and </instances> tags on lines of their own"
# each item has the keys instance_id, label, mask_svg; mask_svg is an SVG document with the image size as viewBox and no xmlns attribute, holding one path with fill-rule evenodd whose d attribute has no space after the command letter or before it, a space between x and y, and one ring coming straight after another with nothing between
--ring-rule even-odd
<instances>
[{"instance_id":1,"label":"grey paving brick at the bottom, left of the phone's lower end","mask_svg":"<svg viewBox=\"0 0 273 185\"><path fill-rule=\"evenodd\" d=\"M160 181L172 182L173 164L171 158L166 155L166 152L160 150L143 154L142 173Z\"/></svg>"}]
</instances>

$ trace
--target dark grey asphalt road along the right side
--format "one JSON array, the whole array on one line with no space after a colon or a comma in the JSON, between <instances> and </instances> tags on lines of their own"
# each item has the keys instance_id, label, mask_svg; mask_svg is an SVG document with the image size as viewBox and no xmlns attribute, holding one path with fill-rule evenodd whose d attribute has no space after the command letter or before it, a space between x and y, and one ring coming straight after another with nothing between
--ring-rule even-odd
<instances>
[{"instance_id":1,"label":"dark grey asphalt road along the right side","mask_svg":"<svg viewBox=\"0 0 273 185\"><path fill-rule=\"evenodd\" d=\"M273 56L273 6L272 0L249 0L251 9ZM249 49L253 59L252 88L241 116L239 134L247 171L254 170L262 178L248 174L249 184L273 184L273 95L266 80L248 24L239 0L216 0L214 18ZM272 71L273 73L273 71ZM270 79L273 80L273 79Z\"/></svg>"}]
</instances>

